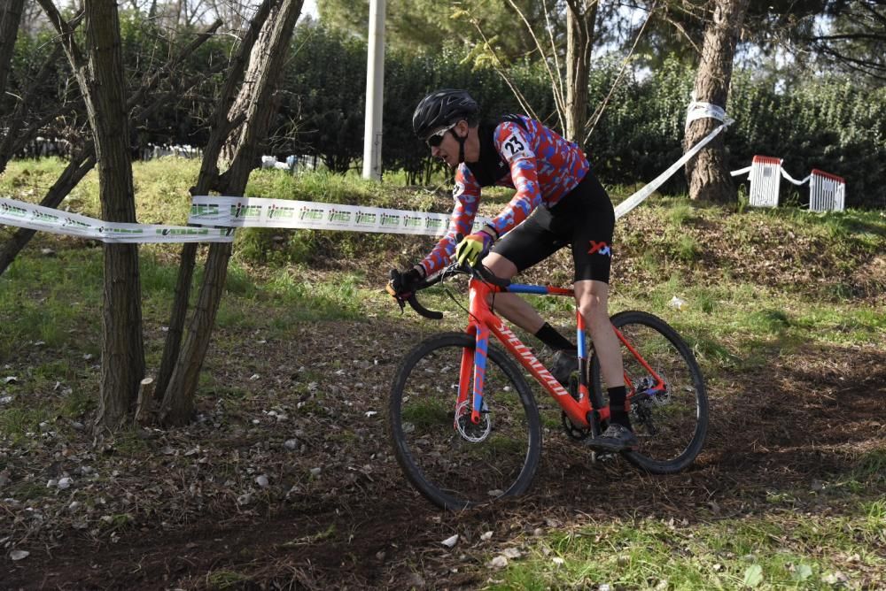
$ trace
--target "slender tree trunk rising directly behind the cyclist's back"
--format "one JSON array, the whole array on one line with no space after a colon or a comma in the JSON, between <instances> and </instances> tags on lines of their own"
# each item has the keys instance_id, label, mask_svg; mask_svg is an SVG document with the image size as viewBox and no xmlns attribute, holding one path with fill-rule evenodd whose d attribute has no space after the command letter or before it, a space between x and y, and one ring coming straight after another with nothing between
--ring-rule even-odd
<instances>
[{"instance_id":1,"label":"slender tree trunk rising directly behind the cyclist's back","mask_svg":"<svg viewBox=\"0 0 886 591\"><path fill-rule=\"evenodd\" d=\"M582 142L587 125L587 84L594 49L597 0L569 0L566 7L565 137Z\"/></svg>"}]
</instances>

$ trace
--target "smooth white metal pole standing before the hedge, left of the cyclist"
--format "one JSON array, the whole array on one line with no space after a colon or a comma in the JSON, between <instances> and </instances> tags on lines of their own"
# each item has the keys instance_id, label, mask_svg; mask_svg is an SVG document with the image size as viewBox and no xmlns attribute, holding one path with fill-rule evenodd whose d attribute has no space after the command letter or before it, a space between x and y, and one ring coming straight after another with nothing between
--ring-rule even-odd
<instances>
[{"instance_id":1,"label":"smooth white metal pole standing before the hedge, left of the cyclist","mask_svg":"<svg viewBox=\"0 0 886 591\"><path fill-rule=\"evenodd\" d=\"M382 178L382 104L385 82L385 0L369 0L363 178Z\"/></svg>"}]
</instances>

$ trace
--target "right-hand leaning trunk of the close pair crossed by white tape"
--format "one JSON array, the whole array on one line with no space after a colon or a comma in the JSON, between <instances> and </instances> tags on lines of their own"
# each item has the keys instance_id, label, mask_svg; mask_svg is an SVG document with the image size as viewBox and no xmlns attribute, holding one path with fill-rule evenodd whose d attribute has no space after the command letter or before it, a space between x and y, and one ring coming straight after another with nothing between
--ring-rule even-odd
<instances>
[{"instance_id":1,"label":"right-hand leaning trunk of the close pair crossed by white tape","mask_svg":"<svg viewBox=\"0 0 886 591\"><path fill-rule=\"evenodd\" d=\"M243 122L243 127L236 132L231 165L215 187L224 195L243 195L249 174L258 164L260 142L267 136L275 112L271 105L276 82L283 71L292 29L299 19L302 3L303 0L277 0L273 4L252 47L244 84L236 100L230 104L227 116L223 117L229 131L236 128L233 122ZM221 142L227 136L228 133L217 136L221 141L217 147L212 147L216 159ZM190 320L188 336L170 374L160 407L160 420L165 424L183 425L193 414L199 372L206 359L215 315L221 303L230 253L229 243L214 243L209 247L204 283Z\"/></svg>"}]
</instances>

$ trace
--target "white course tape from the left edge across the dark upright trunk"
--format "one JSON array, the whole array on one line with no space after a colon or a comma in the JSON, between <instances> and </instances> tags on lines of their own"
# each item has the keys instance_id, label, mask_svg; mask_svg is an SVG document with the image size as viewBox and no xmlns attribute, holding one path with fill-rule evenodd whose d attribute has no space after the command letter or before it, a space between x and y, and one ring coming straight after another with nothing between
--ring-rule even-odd
<instances>
[{"instance_id":1,"label":"white course tape from the left edge across the dark upright trunk","mask_svg":"<svg viewBox=\"0 0 886 591\"><path fill-rule=\"evenodd\" d=\"M123 224L0 198L0 224L102 242L231 242L229 228Z\"/></svg>"}]
</instances>

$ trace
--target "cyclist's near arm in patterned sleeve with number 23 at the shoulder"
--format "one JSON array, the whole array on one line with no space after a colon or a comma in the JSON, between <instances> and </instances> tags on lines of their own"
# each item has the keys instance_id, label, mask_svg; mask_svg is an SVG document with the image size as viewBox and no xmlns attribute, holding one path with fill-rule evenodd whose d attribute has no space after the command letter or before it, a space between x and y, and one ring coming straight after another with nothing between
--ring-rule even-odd
<instances>
[{"instance_id":1,"label":"cyclist's near arm in patterned sleeve with number 23 at the shoulder","mask_svg":"<svg viewBox=\"0 0 886 591\"><path fill-rule=\"evenodd\" d=\"M535 154L526 135L516 123L502 123L495 128L495 149L508 162L510 178L517 189L489 224L498 236L517 226L541 203Z\"/></svg>"}]
</instances>

